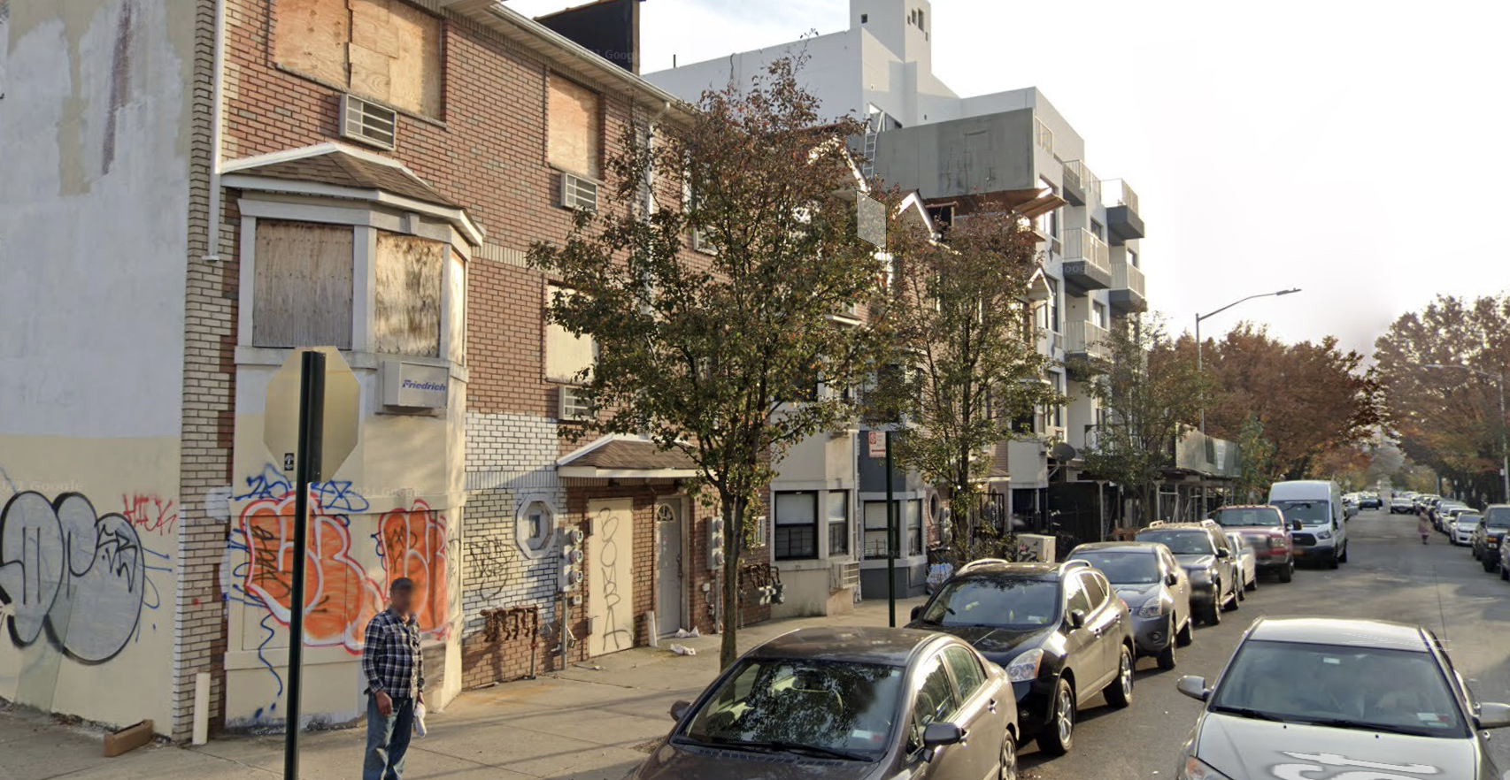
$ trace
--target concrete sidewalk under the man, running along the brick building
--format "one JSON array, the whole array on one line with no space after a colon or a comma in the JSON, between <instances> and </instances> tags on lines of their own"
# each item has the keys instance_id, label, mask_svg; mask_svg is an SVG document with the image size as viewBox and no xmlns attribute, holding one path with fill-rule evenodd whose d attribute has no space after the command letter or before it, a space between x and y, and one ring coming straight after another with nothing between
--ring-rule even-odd
<instances>
[{"instance_id":1,"label":"concrete sidewalk under the man, running along the brick building","mask_svg":"<svg viewBox=\"0 0 1510 780\"><path fill-rule=\"evenodd\" d=\"M897 622L921 599L898 602ZM773 620L740 631L749 649L802 626L886 625L886 602L850 616ZM667 711L717 674L722 637L661 641L596 658L536 680L468 691L426 720L430 732L409 750L406 780L619 780L670 727ZM672 644L693 656L667 650ZM358 777L365 730L300 739L300 777ZM51 718L0 714L0 780L266 780L282 774L282 736L217 736L196 748L149 745L101 757L100 733Z\"/></svg>"}]
</instances>

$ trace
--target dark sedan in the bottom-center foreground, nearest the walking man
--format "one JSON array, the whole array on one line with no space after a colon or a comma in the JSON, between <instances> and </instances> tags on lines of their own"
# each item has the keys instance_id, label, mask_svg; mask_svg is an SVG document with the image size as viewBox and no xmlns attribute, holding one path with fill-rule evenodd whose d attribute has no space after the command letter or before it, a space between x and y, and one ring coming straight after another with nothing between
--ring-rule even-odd
<instances>
[{"instance_id":1,"label":"dark sedan in the bottom-center foreground, nearest the walking man","mask_svg":"<svg viewBox=\"0 0 1510 780\"><path fill-rule=\"evenodd\" d=\"M1016 709L1001 667L954 637L812 628L734 662L627 780L1007 778Z\"/></svg>"}]
</instances>

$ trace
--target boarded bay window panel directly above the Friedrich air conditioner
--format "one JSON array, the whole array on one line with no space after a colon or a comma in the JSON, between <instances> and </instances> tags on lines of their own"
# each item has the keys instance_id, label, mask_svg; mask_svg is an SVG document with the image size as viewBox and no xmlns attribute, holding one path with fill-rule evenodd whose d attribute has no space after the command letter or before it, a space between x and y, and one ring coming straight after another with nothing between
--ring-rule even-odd
<instances>
[{"instance_id":1,"label":"boarded bay window panel directly above the Friedrich air conditioner","mask_svg":"<svg viewBox=\"0 0 1510 780\"><path fill-rule=\"evenodd\" d=\"M373 352L439 358L445 244L378 232Z\"/></svg>"}]
</instances>

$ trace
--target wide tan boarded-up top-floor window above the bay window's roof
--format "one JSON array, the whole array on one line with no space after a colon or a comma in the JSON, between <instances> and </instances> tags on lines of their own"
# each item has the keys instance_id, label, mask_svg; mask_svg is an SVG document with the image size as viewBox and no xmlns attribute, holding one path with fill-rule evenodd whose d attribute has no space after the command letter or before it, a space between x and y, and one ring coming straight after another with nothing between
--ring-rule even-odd
<instances>
[{"instance_id":1,"label":"wide tan boarded-up top-floor window above the bay window's roof","mask_svg":"<svg viewBox=\"0 0 1510 780\"><path fill-rule=\"evenodd\" d=\"M441 20L403 0L278 0L276 56L358 95L441 113Z\"/></svg>"}]
</instances>

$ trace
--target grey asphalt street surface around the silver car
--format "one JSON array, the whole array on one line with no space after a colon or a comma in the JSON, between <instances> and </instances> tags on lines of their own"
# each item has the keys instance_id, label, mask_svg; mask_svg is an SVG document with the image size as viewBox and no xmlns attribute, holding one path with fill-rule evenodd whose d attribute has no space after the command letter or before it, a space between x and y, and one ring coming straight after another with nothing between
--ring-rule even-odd
<instances>
[{"instance_id":1,"label":"grey asphalt street surface around the silver car","mask_svg":"<svg viewBox=\"0 0 1510 780\"><path fill-rule=\"evenodd\" d=\"M1200 709L1175 691L1182 674L1214 676L1243 631L1258 617L1365 617L1418 623L1442 637L1453 662L1484 702L1510 700L1510 584L1484 573L1468 548L1433 534L1422 546L1413 514L1364 511L1348 522L1350 563L1339 570L1302 569L1290 584L1264 579L1220 626L1196 629L1178 668L1139 664L1134 703L1125 711L1092 705L1081 712L1075 748L1048 759L1022 756L1033 780L1172 778L1179 748ZM1510 769L1510 732L1490 739L1495 762Z\"/></svg>"}]
</instances>

